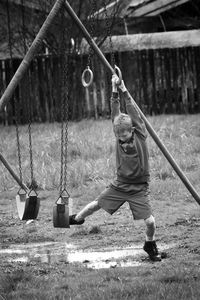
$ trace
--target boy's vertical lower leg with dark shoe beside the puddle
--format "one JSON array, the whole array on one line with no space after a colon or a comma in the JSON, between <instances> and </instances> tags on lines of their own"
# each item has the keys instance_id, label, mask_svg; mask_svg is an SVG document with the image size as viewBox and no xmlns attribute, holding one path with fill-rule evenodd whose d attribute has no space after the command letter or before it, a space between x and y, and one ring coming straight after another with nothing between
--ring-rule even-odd
<instances>
[{"instance_id":1,"label":"boy's vertical lower leg with dark shoe beside the puddle","mask_svg":"<svg viewBox=\"0 0 200 300\"><path fill-rule=\"evenodd\" d=\"M144 221L146 224L146 240L143 249L148 253L149 258L152 261L160 261L161 257L158 254L156 241L154 240L155 229L156 229L155 219L151 215L149 218L145 219Z\"/></svg>"}]
</instances>

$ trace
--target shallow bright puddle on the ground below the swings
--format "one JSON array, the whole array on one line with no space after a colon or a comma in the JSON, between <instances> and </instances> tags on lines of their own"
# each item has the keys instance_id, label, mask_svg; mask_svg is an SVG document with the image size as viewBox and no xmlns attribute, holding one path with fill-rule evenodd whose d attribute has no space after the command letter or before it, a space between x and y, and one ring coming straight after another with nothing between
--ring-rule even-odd
<instances>
[{"instance_id":1,"label":"shallow bright puddle on the ground below the swings","mask_svg":"<svg viewBox=\"0 0 200 300\"><path fill-rule=\"evenodd\" d=\"M161 245L161 251L172 248L173 245ZM7 249L0 249L9 262L42 262L42 263L82 263L93 269L139 266L145 252L141 246L128 248L105 248L101 251L83 251L68 243L38 243L28 245L12 245Z\"/></svg>"}]
</instances>

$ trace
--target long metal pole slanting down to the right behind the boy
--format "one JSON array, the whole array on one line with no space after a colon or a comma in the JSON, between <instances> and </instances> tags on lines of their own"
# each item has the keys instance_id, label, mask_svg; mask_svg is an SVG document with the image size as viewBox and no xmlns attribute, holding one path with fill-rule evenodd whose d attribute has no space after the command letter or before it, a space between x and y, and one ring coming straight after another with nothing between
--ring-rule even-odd
<instances>
[{"instance_id":1,"label":"long metal pole slanting down to the right behind the boy","mask_svg":"<svg viewBox=\"0 0 200 300\"><path fill-rule=\"evenodd\" d=\"M76 15L74 10L72 9L72 7L69 5L68 1L65 1L65 9L68 12L68 14L71 16L71 18L74 20L76 25L79 27L80 31L83 33L83 35L86 38L87 42L92 47L92 49L95 51L95 53L98 55L98 57L100 58L102 63L111 71L112 74L115 74L115 70L112 68L110 63L106 60L105 56L103 55L101 50L98 48L97 44L95 43L95 41L90 36L87 29L84 27L84 25L82 24L82 22L80 21L80 19L78 18L78 16ZM152 128L151 124L146 119L145 115L143 114L143 112L140 110L140 108L138 107L138 105L136 103L135 103L135 106L138 109L138 111L140 112L140 115L141 115L142 119L145 122L145 125L146 125L146 128L147 128L149 134L151 135L151 137L153 138L153 140L155 141L157 146L160 148L160 150L162 151L164 156L167 158L167 160L169 161L169 163L171 164L171 166L173 167L173 169L175 170L177 175L180 177L180 179L182 180L182 182L184 183L186 188L191 193L191 195L198 202L198 204L200 204L200 197L199 197L197 191L195 190L193 185L190 183L188 178L185 176L183 171L180 169L180 167L177 165L177 163L175 162L175 160L173 159L171 154L168 152L167 148L164 146L164 144L162 143L160 138L157 136L157 134L154 131L154 129Z\"/></svg>"}]
</instances>

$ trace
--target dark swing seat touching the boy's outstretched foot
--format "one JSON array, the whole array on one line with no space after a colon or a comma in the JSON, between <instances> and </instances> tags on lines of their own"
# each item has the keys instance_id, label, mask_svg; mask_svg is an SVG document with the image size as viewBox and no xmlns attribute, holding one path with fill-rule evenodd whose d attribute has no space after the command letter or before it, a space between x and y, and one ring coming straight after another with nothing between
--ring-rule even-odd
<instances>
[{"instance_id":1,"label":"dark swing seat touching the boy's outstretched foot","mask_svg":"<svg viewBox=\"0 0 200 300\"><path fill-rule=\"evenodd\" d=\"M53 226L70 228L69 226L69 197L60 197L53 207Z\"/></svg>"}]
</instances>

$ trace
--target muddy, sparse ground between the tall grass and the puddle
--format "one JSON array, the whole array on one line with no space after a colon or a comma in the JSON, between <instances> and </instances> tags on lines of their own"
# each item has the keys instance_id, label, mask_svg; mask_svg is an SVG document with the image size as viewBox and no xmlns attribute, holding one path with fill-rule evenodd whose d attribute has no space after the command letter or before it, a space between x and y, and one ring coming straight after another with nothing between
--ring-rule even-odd
<instances>
[{"instance_id":1,"label":"muddy, sparse ground between the tall grass and the puddle","mask_svg":"<svg viewBox=\"0 0 200 300\"><path fill-rule=\"evenodd\" d=\"M19 220L15 196L15 190L1 193L1 249L46 242L64 242L82 250L126 248L134 247L134 245L142 247L143 245L145 230L143 221L133 222L126 204L112 217L104 211L99 211L88 217L81 226L54 228L52 210L57 199L56 191L39 192L41 200L38 218L30 223ZM172 202L173 193L165 200L159 199L159 195L152 199L157 222L158 247L166 245L170 248L167 250L168 259L187 256L193 257L196 263L199 263L199 205L188 195L187 191L183 193L181 199L177 199L176 195L175 199L176 202ZM74 195L74 212L81 208L78 203L78 198ZM6 261L5 254L1 254L0 259Z\"/></svg>"}]
</instances>

